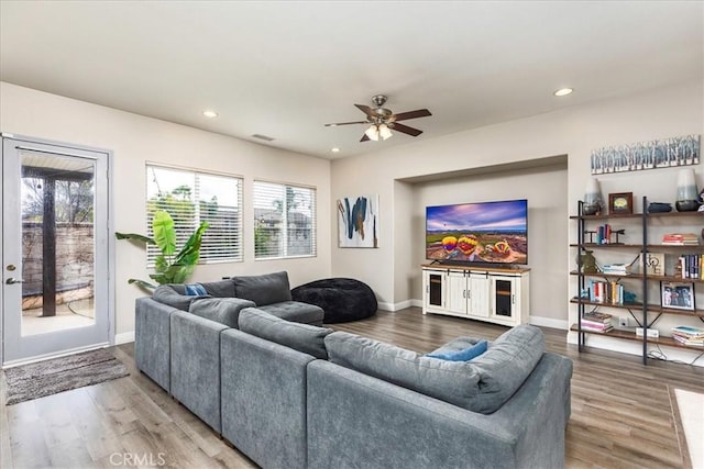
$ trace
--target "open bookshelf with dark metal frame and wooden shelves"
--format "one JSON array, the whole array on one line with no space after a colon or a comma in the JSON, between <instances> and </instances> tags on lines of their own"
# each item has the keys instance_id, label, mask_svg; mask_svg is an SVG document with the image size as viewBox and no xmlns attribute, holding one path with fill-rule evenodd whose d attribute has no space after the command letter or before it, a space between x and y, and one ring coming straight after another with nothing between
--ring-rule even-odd
<instances>
[{"instance_id":1,"label":"open bookshelf with dark metal frame and wooden shelves","mask_svg":"<svg viewBox=\"0 0 704 469\"><path fill-rule=\"evenodd\" d=\"M644 197L642 206L648 206L647 198ZM597 309L615 309L626 310L634 319L639 327L650 328L656 325L658 320L663 315L680 315L691 319L698 319L704 321L704 309L702 305L696 304L696 291L704 290L704 278L702 276L702 260L704 258L704 245L698 241L686 239L686 243L674 243L672 235L666 235L658 237L657 239L649 241L649 231L653 223L659 223L660 227L663 223L667 224L668 230L676 230L678 226L686 226L688 224L701 225L704 223L704 212L668 212L668 213L632 213L632 214L598 214L598 215L584 215L583 202L579 203L578 215L570 216L572 220L578 221L578 243L571 244L571 247L578 248L578 253L585 250L598 252L602 258L613 258L616 252L631 252L635 254L634 269L622 267L617 265L614 269L603 269L606 271L585 272L582 268L582 256L578 256L578 269L570 272L571 276L578 277L578 294L573 297L570 302L578 305L578 321L571 326L571 331L578 332L578 342L580 350L586 343L586 337L591 334L598 334L608 337L623 338L629 340L637 340L642 343L642 360L647 364L648 358L648 344L666 345L669 347L688 348L694 350L701 350L700 345L693 343L686 343L683 340L676 340L673 337L667 337L660 335L659 337L649 337L647 334L637 336L631 331L624 331L618 328L602 327L601 330L594 327L582 327L585 323L581 319L590 314L588 309L594 311ZM618 222L637 225L640 221L640 234L641 243L625 243L622 242L624 237L616 241L614 234L618 233L624 235L623 230L618 230ZM623 224L622 223L622 224ZM594 230L595 226L598 226ZM670 236L670 237L667 237ZM654 237L654 236L653 236ZM685 236L686 237L686 236ZM690 236L691 237L691 236ZM654 241L654 242L653 242ZM662 263L666 256L673 256L682 258L682 269L676 273L670 269L670 272L666 271L664 265L659 269L653 269L652 259L656 255L650 253L657 252L658 263ZM649 260L651 264L649 264ZM656 272L660 272L659 275ZM685 277L686 276L686 277ZM594 291L590 291L587 288L598 283L603 288L602 294L595 295ZM622 290L619 286L627 283L628 288L636 289L641 301L635 301L632 299L619 297L618 292ZM686 283L691 284L691 308L675 308L667 306L662 304L661 295L649 299L648 290L649 286L659 282L660 290L662 287L670 283ZM620 293L623 294L623 293ZM698 308L697 308L698 306ZM587 320L588 321L588 320ZM688 320L690 321L690 320ZM588 324L588 322L586 323ZM663 331L670 333L670 331Z\"/></svg>"}]
</instances>

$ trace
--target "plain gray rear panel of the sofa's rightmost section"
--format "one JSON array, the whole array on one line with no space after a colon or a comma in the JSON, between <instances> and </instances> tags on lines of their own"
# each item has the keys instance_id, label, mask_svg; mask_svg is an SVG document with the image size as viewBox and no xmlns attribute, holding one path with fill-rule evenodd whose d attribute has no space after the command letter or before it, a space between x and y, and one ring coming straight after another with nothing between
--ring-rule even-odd
<instances>
[{"instance_id":1,"label":"plain gray rear panel of the sofa's rightmost section","mask_svg":"<svg viewBox=\"0 0 704 469\"><path fill-rule=\"evenodd\" d=\"M561 359L543 357L537 372L490 415L328 361L312 361L309 467L563 467L562 399L571 362Z\"/></svg>"}]
</instances>

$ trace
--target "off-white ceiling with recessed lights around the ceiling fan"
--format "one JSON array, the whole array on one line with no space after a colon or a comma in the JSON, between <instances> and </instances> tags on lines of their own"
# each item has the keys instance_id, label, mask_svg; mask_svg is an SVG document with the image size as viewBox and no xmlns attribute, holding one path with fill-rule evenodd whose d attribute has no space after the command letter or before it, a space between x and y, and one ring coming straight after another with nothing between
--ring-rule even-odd
<instances>
[{"instance_id":1,"label":"off-white ceiling with recessed lights around the ceiling fan","mask_svg":"<svg viewBox=\"0 0 704 469\"><path fill-rule=\"evenodd\" d=\"M702 80L704 2L1 0L0 79L337 158ZM377 93L424 134L323 126Z\"/></svg>"}]
</instances>

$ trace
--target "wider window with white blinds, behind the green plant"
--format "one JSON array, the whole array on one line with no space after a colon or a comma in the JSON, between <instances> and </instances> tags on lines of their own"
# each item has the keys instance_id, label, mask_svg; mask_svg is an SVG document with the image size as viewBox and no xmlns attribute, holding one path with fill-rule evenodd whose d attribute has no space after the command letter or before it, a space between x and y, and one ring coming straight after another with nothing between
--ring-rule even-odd
<instances>
[{"instance_id":1,"label":"wider window with white blinds, behind the green plant","mask_svg":"<svg viewBox=\"0 0 704 469\"><path fill-rule=\"evenodd\" d=\"M202 237L200 264L242 260L242 179L186 169L146 166L146 220L152 233L154 211L174 219L180 248L201 222L210 226ZM158 248L147 246L147 263Z\"/></svg>"}]
</instances>

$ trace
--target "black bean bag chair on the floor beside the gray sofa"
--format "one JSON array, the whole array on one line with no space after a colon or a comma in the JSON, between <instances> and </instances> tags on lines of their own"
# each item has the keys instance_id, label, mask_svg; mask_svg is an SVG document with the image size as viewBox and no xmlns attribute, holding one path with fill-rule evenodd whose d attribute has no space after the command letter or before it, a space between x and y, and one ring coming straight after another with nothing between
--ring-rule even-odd
<instances>
[{"instance_id":1,"label":"black bean bag chair on the floor beside the gray sofa","mask_svg":"<svg viewBox=\"0 0 704 469\"><path fill-rule=\"evenodd\" d=\"M322 308L323 323L345 323L376 314L376 297L364 282L346 278L311 281L290 291L294 301Z\"/></svg>"}]
</instances>

